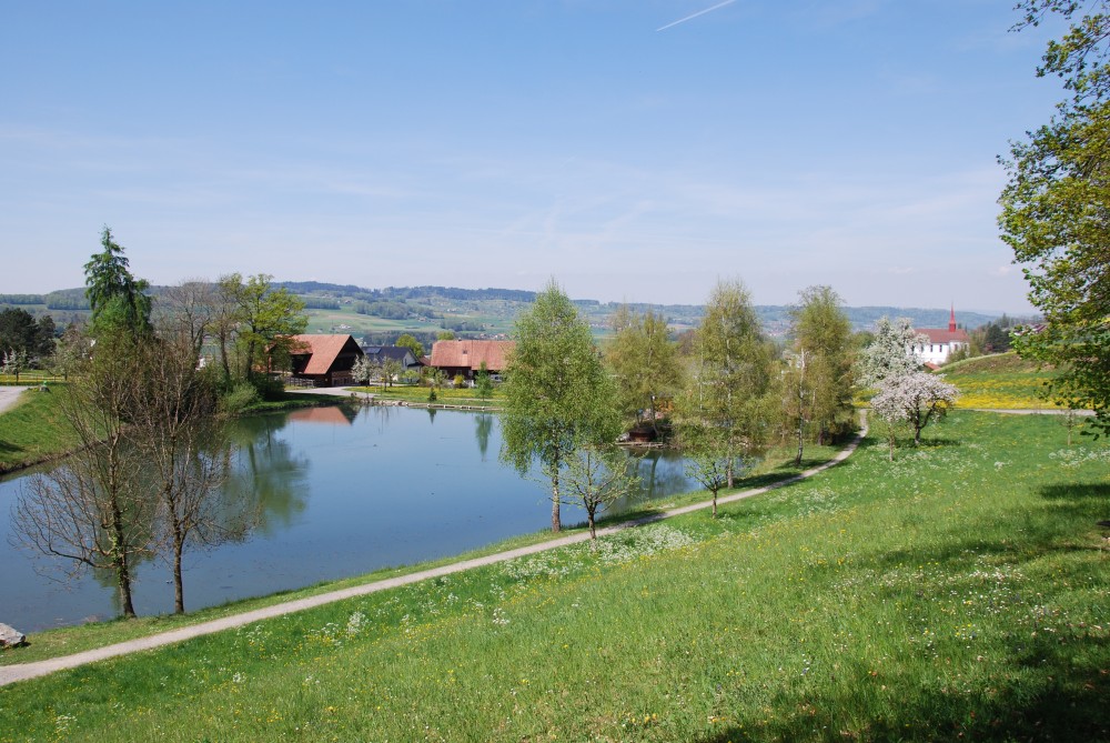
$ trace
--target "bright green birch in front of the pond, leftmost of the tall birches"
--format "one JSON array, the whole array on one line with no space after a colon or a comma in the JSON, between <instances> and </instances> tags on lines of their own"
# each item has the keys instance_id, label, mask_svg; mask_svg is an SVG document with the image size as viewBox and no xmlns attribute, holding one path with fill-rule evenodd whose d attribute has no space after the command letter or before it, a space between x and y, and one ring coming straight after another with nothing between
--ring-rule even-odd
<instances>
[{"instance_id":1,"label":"bright green birch in front of the pond, leftmost of the tall birches","mask_svg":"<svg viewBox=\"0 0 1110 743\"><path fill-rule=\"evenodd\" d=\"M559 479L571 456L619 431L609 378L589 325L554 280L516 319L506 370L503 461L526 474L534 460L552 488L552 531L562 529Z\"/></svg>"}]
</instances>

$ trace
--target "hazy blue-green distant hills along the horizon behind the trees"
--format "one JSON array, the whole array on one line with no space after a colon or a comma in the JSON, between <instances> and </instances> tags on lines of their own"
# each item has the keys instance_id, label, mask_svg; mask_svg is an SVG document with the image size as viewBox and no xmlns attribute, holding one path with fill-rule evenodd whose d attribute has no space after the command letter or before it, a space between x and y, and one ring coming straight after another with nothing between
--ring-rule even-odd
<instances>
[{"instance_id":1,"label":"hazy blue-green distant hills along the horizon behind the trees","mask_svg":"<svg viewBox=\"0 0 1110 743\"><path fill-rule=\"evenodd\" d=\"M535 300L536 292L519 289L461 289L457 287L386 287L366 289L354 284L321 281L281 281L278 287L300 295L309 309L310 332L351 332L372 342L390 342L402 332L434 339L443 330L466 338L498 338L512 330L517 312ZM152 288L159 293L163 288ZM576 299L575 304L594 331L608 332L609 317L620 302ZM88 314L83 289L63 289L49 294L0 294L0 308L22 307L32 314L50 313L60 323ZM699 304L629 303L638 312L652 310L682 331L698 324ZM790 327L790 307L756 305L759 319L771 335L781 337ZM848 307L855 330L875 327L881 317L909 318L918 328L946 328L949 310L944 308ZM999 314L957 311L956 320L973 329L998 319Z\"/></svg>"}]
</instances>

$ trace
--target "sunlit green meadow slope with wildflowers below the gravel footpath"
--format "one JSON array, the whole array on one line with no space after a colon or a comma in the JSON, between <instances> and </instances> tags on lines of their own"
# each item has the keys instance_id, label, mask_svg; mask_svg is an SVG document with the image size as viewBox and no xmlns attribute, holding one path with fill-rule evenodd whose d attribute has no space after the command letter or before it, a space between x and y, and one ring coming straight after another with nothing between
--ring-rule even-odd
<instances>
[{"instance_id":1,"label":"sunlit green meadow slope with wildflowers below the gravel footpath","mask_svg":"<svg viewBox=\"0 0 1110 743\"><path fill-rule=\"evenodd\" d=\"M0 691L2 740L1108 740L1106 445L957 412L806 483Z\"/></svg>"}]
</instances>

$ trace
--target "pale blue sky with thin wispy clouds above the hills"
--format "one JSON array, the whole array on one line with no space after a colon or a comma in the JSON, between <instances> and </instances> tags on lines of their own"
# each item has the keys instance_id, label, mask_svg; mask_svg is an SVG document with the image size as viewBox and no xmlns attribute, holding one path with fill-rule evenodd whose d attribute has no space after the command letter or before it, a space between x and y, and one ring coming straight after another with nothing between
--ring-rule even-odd
<instances>
[{"instance_id":1,"label":"pale blue sky with thin wispy clouds above the hills","mask_svg":"<svg viewBox=\"0 0 1110 743\"><path fill-rule=\"evenodd\" d=\"M0 0L0 292L231 272L1028 312L1010 0Z\"/></svg>"}]
</instances>

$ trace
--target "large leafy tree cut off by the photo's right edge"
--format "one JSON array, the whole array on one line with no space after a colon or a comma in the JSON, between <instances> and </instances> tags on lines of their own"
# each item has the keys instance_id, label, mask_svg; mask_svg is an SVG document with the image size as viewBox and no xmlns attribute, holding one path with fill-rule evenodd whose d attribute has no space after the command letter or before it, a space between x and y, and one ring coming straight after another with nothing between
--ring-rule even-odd
<instances>
[{"instance_id":1,"label":"large leafy tree cut off by the photo's right edge","mask_svg":"<svg viewBox=\"0 0 1110 743\"><path fill-rule=\"evenodd\" d=\"M1012 342L1025 358L1056 364L1060 400L1089 406L1110 431L1110 16L1107 3L1025 0L1017 28L1049 13L1071 21L1049 43L1037 74L1057 76L1071 98L1002 160L1008 181L999 203L1002 240L1029 282L1043 329L1021 329ZM1080 8L1098 10L1080 17Z\"/></svg>"}]
</instances>

